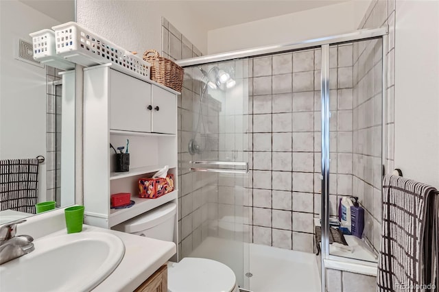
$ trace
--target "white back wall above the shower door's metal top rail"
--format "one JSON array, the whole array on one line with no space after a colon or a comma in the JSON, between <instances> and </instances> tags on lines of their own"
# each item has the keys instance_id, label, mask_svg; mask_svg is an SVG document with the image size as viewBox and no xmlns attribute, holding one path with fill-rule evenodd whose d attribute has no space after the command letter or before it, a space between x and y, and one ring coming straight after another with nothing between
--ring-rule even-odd
<instances>
[{"instance_id":1,"label":"white back wall above the shower door's metal top rail","mask_svg":"<svg viewBox=\"0 0 439 292\"><path fill-rule=\"evenodd\" d=\"M364 16L366 4L357 5L353 1L348 1L213 29L208 34L208 53L222 53L351 32L357 29L361 21L359 18Z\"/></svg>"}]
</instances>

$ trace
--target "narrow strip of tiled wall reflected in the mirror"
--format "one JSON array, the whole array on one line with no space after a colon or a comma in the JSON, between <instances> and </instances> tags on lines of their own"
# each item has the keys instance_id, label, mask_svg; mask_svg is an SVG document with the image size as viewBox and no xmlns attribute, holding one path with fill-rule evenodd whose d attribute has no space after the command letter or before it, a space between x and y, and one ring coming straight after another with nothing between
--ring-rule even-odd
<instances>
[{"instance_id":1,"label":"narrow strip of tiled wall reflected in the mirror","mask_svg":"<svg viewBox=\"0 0 439 292\"><path fill-rule=\"evenodd\" d=\"M55 86L60 80L60 71L46 66L46 155L47 201L61 202L61 99L62 85ZM58 206L58 205L57 205Z\"/></svg>"}]
</instances>

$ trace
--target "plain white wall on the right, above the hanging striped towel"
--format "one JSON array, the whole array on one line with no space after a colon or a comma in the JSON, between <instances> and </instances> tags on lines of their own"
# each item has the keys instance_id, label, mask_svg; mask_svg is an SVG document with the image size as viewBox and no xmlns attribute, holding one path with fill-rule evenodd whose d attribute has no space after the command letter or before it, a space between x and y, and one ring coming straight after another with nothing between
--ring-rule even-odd
<instances>
[{"instance_id":1,"label":"plain white wall on the right, above the hanging striped towel","mask_svg":"<svg viewBox=\"0 0 439 292\"><path fill-rule=\"evenodd\" d=\"M396 1L394 165L439 187L439 1Z\"/></svg>"}]
</instances>

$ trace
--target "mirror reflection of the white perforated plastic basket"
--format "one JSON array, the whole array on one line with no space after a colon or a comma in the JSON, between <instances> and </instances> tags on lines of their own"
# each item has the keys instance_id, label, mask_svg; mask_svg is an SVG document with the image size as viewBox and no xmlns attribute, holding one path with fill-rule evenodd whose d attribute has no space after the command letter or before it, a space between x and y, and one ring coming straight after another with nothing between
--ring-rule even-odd
<instances>
[{"instance_id":1,"label":"mirror reflection of the white perforated plastic basket","mask_svg":"<svg viewBox=\"0 0 439 292\"><path fill-rule=\"evenodd\" d=\"M34 60L58 69L75 69L75 64L56 55L55 32L53 30L42 29L29 34L29 36L32 37Z\"/></svg>"}]
</instances>

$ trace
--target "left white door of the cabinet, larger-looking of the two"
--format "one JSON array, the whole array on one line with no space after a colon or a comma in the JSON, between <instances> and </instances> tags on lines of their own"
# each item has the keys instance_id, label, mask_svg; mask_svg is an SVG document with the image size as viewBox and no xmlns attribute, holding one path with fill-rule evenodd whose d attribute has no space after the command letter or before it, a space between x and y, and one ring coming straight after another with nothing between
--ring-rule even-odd
<instances>
[{"instance_id":1,"label":"left white door of the cabinet, larger-looking of the two","mask_svg":"<svg viewBox=\"0 0 439 292\"><path fill-rule=\"evenodd\" d=\"M151 84L110 70L110 129L151 132Z\"/></svg>"}]
</instances>

